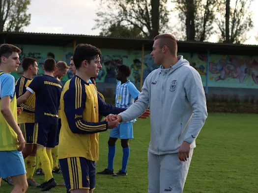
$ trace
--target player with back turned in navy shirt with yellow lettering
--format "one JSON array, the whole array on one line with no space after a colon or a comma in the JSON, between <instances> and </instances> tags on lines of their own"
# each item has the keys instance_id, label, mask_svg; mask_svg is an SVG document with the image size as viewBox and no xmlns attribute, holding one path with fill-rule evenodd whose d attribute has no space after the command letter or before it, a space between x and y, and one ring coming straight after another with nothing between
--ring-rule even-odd
<instances>
[{"instance_id":1,"label":"player with back turned in navy shirt with yellow lettering","mask_svg":"<svg viewBox=\"0 0 258 193\"><path fill-rule=\"evenodd\" d=\"M34 143L37 144L37 154L45 173L45 182L40 185L41 191L49 191L57 185L52 174L51 148L56 146L58 108L63 86L53 75L56 68L54 59L46 59L43 65L45 74L36 76L26 88L26 93L17 98L17 104L21 104L33 93L36 95Z\"/></svg>"}]
</instances>

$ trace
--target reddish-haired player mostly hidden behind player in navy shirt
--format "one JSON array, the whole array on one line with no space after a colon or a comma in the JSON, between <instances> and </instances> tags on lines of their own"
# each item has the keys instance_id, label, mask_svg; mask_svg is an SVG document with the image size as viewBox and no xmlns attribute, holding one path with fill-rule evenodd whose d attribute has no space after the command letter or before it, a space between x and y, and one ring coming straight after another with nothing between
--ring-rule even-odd
<instances>
[{"instance_id":1,"label":"reddish-haired player mostly hidden behind player in navy shirt","mask_svg":"<svg viewBox=\"0 0 258 193\"><path fill-rule=\"evenodd\" d=\"M67 66L66 62L58 61L57 62L57 70L53 73L54 77L57 80L61 81L61 78L67 74L69 67ZM52 172L54 173L61 173L61 169L58 166L58 156L57 156L57 149L59 143L59 133L61 129L61 116L60 110L58 110L58 135L57 135L57 145L51 149L52 157L53 157L53 169Z\"/></svg>"}]
</instances>

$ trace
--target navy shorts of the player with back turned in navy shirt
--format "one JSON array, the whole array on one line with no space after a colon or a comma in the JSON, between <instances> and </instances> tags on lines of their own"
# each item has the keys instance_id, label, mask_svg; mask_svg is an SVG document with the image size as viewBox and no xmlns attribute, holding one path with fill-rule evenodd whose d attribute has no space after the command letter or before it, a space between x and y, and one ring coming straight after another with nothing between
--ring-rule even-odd
<instances>
[{"instance_id":1,"label":"navy shorts of the player with back turned in navy shirt","mask_svg":"<svg viewBox=\"0 0 258 193\"><path fill-rule=\"evenodd\" d=\"M34 126L34 144L54 148L57 144L57 124L36 122Z\"/></svg>"}]
</instances>

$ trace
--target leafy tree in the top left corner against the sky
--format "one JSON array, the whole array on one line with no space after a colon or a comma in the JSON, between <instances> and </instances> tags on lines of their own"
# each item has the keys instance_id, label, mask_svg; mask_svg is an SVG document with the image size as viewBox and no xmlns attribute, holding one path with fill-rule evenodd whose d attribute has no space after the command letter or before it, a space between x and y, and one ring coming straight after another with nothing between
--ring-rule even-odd
<instances>
[{"instance_id":1,"label":"leafy tree in the top left corner against the sky","mask_svg":"<svg viewBox=\"0 0 258 193\"><path fill-rule=\"evenodd\" d=\"M30 0L0 0L0 32L22 31L30 22Z\"/></svg>"}]
</instances>

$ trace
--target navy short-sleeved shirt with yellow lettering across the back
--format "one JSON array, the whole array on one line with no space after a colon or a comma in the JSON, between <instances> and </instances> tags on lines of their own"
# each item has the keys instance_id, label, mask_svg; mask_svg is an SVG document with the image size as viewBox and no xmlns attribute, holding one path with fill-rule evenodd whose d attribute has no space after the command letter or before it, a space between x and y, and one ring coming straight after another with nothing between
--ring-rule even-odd
<instances>
[{"instance_id":1,"label":"navy short-sleeved shirt with yellow lettering across the back","mask_svg":"<svg viewBox=\"0 0 258 193\"><path fill-rule=\"evenodd\" d=\"M36 76L26 89L36 95L35 122L58 124L62 83L54 76Z\"/></svg>"}]
</instances>

